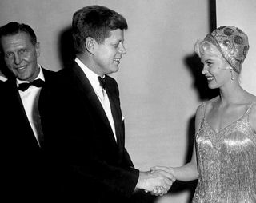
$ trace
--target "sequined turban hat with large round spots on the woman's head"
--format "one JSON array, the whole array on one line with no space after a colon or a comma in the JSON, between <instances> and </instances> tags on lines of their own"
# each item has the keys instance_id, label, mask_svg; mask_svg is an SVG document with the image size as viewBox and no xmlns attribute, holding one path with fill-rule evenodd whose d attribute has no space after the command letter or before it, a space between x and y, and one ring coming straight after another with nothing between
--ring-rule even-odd
<instances>
[{"instance_id":1,"label":"sequined turban hat with large round spots on the woman's head","mask_svg":"<svg viewBox=\"0 0 256 203\"><path fill-rule=\"evenodd\" d=\"M205 41L217 46L222 56L238 74L249 50L247 35L234 26L221 26L207 34Z\"/></svg>"}]
</instances>

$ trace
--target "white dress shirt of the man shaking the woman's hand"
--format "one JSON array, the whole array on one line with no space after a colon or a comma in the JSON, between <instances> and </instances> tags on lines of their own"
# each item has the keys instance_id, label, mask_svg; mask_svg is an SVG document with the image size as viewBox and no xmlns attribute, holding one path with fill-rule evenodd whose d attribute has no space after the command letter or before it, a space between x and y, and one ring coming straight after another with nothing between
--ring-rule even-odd
<instances>
[{"instance_id":1,"label":"white dress shirt of the man shaking the woman's hand","mask_svg":"<svg viewBox=\"0 0 256 203\"><path fill-rule=\"evenodd\" d=\"M111 129L114 133L114 139L117 141L117 137L115 134L115 128L114 128L114 119L111 113L110 108L110 100L106 94L106 90L102 88L98 81L98 74L95 74L92 70L90 70L86 65L84 65L79 58L75 58L75 62L78 63L78 66L82 69L82 71L86 74L86 77L90 81L91 86L94 88L94 92L98 97L98 100L101 102L102 107L106 113L106 117L108 118L110 122Z\"/></svg>"}]
</instances>

